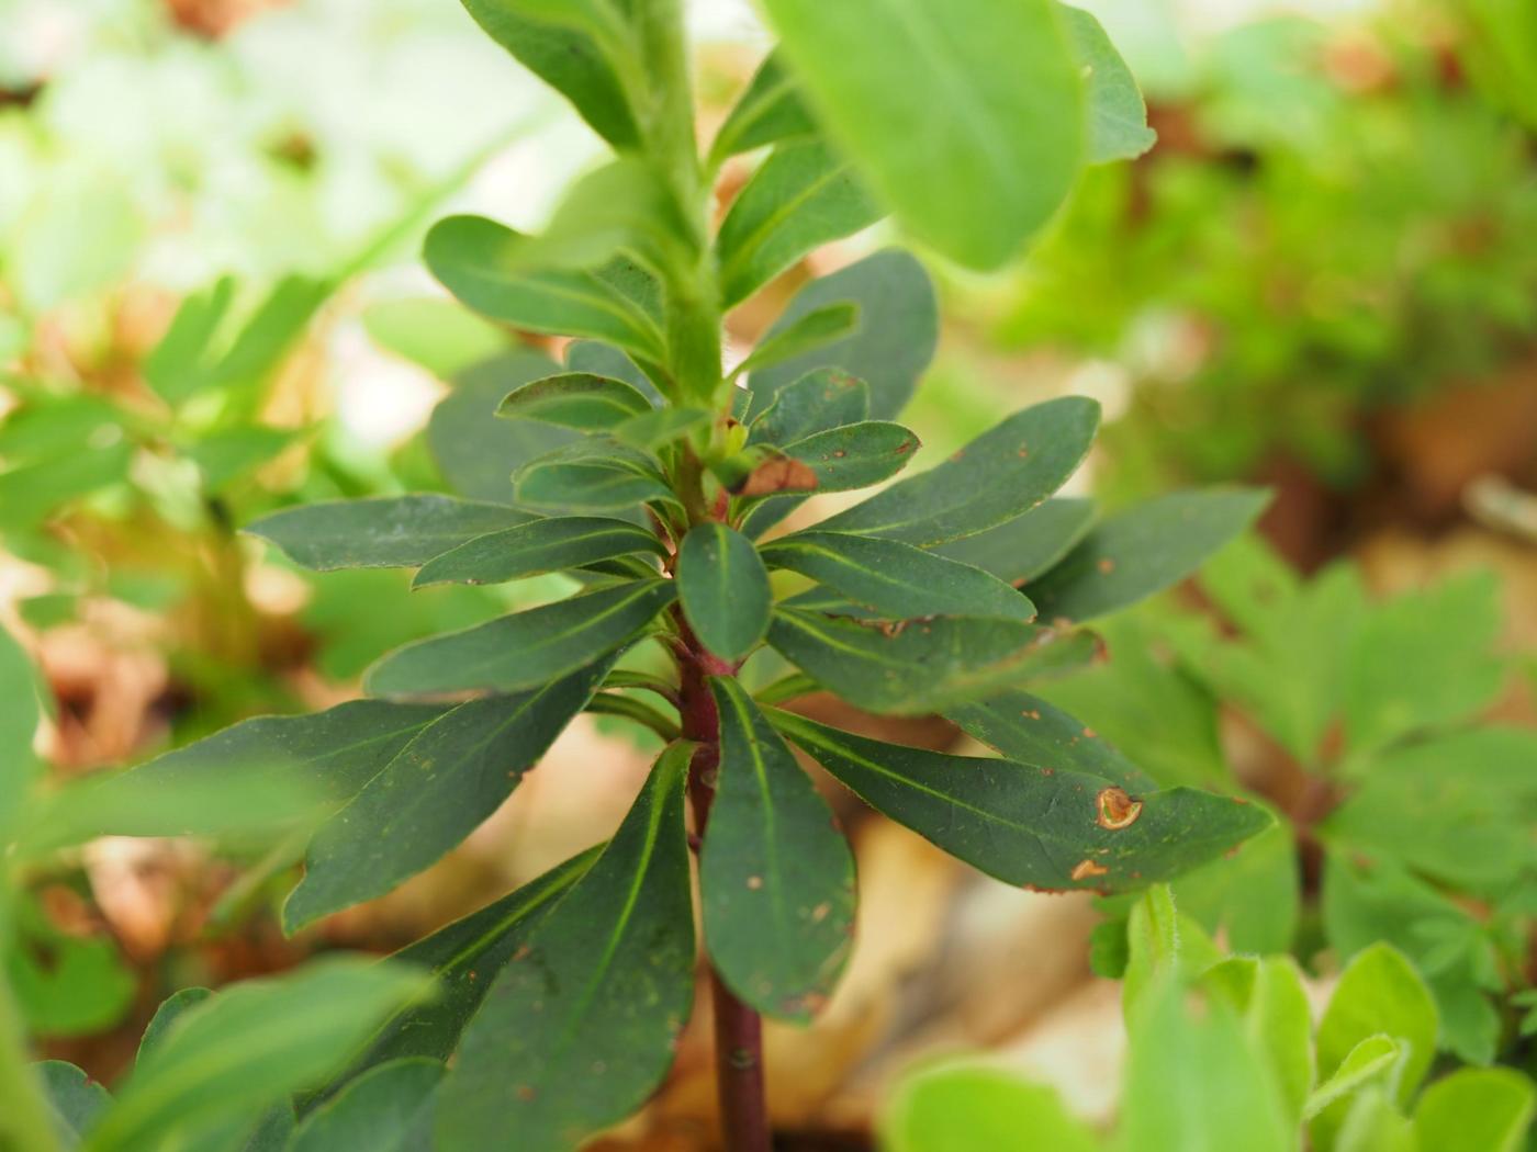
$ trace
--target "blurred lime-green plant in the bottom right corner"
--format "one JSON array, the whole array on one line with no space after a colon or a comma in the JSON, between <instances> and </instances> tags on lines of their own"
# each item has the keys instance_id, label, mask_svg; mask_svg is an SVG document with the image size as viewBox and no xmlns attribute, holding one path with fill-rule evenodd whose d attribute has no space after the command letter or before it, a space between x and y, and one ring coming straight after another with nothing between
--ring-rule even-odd
<instances>
[{"instance_id":1,"label":"blurred lime-green plant in the bottom right corner","mask_svg":"<svg viewBox=\"0 0 1537 1152\"><path fill-rule=\"evenodd\" d=\"M1131 909L1120 1118L1100 1135L998 1066L910 1075L888 1152L1520 1152L1537 1091L1508 1068L1434 1069L1436 1000L1391 945L1359 952L1314 1026L1288 955L1225 955L1167 888Z\"/></svg>"}]
</instances>

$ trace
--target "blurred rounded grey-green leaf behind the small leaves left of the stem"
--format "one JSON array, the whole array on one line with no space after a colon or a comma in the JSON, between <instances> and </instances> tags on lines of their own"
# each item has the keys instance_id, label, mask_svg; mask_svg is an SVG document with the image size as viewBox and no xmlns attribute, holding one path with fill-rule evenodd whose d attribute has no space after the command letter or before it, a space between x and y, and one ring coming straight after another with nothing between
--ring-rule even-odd
<instances>
[{"instance_id":1,"label":"blurred rounded grey-green leaf behind the small leaves left of the stem","mask_svg":"<svg viewBox=\"0 0 1537 1152\"><path fill-rule=\"evenodd\" d=\"M427 421L427 447L461 495L512 504L512 472L550 449L579 439L570 429L533 419L496 419L512 389L558 366L533 352L510 352L463 373Z\"/></svg>"}]
</instances>

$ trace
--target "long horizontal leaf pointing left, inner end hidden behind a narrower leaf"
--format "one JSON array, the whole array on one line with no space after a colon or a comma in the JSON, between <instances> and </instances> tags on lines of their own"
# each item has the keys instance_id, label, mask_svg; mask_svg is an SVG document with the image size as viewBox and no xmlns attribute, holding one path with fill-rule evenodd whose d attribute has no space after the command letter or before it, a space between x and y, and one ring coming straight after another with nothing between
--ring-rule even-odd
<instances>
[{"instance_id":1,"label":"long horizontal leaf pointing left, inner end hidden behind a narrower leaf","mask_svg":"<svg viewBox=\"0 0 1537 1152\"><path fill-rule=\"evenodd\" d=\"M438 553L498 528L527 524L526 511L453 496L367 496L286 508L246 525L310 571L415 568Z\"/></svg>"}]
</instances>

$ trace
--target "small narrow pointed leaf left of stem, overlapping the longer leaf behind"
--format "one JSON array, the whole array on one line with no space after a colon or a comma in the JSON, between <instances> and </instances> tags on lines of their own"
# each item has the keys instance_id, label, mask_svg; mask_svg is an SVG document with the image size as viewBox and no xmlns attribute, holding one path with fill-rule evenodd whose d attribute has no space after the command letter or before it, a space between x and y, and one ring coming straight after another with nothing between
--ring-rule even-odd
<instances>
[{"instance_id":1,"label":"small narrow pointed leaf left of stem, overlapping the longer leaf behind","mask_svg":"<svg viewBox=\"0 0 1537 1152\"><path fill-rule=\"evenodd\" d=\"M664 554L655 533L607 516L550 516L476 536L421 567L412 587L506 584L547 571L583 568L616 556Z\"/></svg>"}]
</instances>

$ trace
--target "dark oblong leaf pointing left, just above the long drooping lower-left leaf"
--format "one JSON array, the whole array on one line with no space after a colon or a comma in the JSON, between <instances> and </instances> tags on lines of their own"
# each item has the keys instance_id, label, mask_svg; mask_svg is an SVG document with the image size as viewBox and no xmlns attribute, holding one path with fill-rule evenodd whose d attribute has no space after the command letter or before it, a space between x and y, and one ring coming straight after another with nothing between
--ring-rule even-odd
<instances>
[{"instance_id":1,"label":"dark oblong leaf pointing left, just above the long drooping lower-left leaf","mask_svg":"<svg viewBox=\"0 0 1537 1152\"><path fill-rule=\"evenodd\" d=\"M364 674L373 696L515 693L626 647L672 604L672 581L633 581L397 648Z\"/></svg>"}]
</instances>

